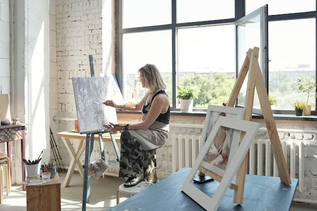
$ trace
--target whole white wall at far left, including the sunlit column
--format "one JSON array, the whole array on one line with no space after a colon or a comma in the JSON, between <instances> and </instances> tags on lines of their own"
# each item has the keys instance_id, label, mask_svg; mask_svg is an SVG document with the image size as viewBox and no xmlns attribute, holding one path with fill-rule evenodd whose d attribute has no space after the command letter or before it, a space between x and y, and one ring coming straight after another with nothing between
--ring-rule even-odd
<instances>
[{"instance_id":1,"label":"whole white wall at far left, including the sunlit column","mask_svg":"<svg viewBox=\"0 0 317 211\"><path fill-rule=\"evenodd\" d=\"M49 108L49 5L46 1L16 0L10 1L10 5L9 1L1 1L0 7L0 87L2 93L10 93L11 117L29 124L25 158L35 160L43 150L46 161L50 158L46 109ZM14 141L13 183L22 181L21 161L20 142Z\"/></svg>"}]
</instances>

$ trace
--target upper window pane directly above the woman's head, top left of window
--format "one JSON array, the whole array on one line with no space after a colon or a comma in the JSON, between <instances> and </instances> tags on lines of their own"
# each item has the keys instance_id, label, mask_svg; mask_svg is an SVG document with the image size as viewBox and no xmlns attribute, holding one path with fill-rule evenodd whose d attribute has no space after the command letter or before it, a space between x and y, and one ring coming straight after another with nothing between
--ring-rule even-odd
<instances>
[{"instance_id":1,"label":"upper window pane directly above the woman's head, top left of window","mask_svg":"<svg viewBox=\"0 0 317 211\"><path fill-rule=\"evenodd\" d=\"M171 8L169 0L123 0L123 28L170 24Z\"/></svg>"}]
</instances>

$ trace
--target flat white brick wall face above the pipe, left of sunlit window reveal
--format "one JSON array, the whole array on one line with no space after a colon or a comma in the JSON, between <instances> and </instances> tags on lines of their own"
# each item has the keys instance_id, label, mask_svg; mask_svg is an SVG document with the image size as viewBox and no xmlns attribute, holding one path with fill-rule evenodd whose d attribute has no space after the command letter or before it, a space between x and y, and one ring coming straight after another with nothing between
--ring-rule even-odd
<instances>
[{"instance_id":1,"label":"flat white brick wall face above the pipe, left of sunlit window reveal","mask_svg":"<svg viewBox=\"0 0 317 211\"><path fill-rule=\"evenodd\" d=\"M59 117L77 117L71 78L91 77L89 55L93 56L95 76L102 72L103 31L106 30L102 29L101 0L56 0L56 101Z\"/></svg>"}]
</instances>

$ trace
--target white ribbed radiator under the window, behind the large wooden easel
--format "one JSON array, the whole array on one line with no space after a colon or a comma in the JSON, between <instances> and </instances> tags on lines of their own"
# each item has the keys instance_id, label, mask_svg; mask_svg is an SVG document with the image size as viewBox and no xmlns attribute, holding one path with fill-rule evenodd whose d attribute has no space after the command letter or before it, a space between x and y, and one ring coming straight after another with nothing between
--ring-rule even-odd
<instances>
[{"instance_id":1,"label":"white ribbed radiator under the window, behind the large wooden easel","mask_svg":"<svg viewBox=\"0 0 317 211\"><path fill-rule=\"evenodd\" d=\"M202 136L172 135L172 173L192 167L199 153ZM298 190L304 190L304 143L282 140L284 157L291 178L298 178ZM249 150L248 174L279 177L269 139L254 140Z\"/></svg>"}]
</instances>

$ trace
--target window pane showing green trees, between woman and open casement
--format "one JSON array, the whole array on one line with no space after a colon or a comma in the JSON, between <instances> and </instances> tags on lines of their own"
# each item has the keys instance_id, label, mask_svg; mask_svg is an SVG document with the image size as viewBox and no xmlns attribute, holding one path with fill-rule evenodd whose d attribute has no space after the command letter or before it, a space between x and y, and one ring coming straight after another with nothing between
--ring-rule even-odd
<instances>
[{"instance_id":1,"label":"window pane showing green trees, between woman and open casement","mask_svg":"<svg viewBox=\"0 0 317 211\"><path fill-rule=\"evenodd\" d=\"M194 107L227 102L235 81L234 25L178 29L177 39L178 84L197 86Z\"/></svg>"}]
</instances>

